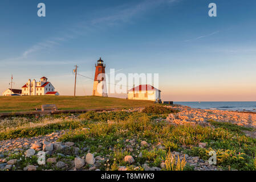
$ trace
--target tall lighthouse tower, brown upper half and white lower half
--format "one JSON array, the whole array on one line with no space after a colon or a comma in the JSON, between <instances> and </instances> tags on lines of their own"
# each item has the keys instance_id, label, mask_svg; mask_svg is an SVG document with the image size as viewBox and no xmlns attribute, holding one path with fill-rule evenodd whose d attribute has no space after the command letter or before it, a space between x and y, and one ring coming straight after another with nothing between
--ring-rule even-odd
<instances>
[{"instance_id":1,"label":"tall lighthouse tower, brown upper half and white lower half","mask_svg":"<svg viewBox=\"0 0 256 182\"><path fill-rule=\"evenodd\" d=\"M95 77L94 77L94 88L92 89L93 96L108 97L107 85L105 80L105 64L103 64L101 57L95 64Z\"/></svg>"}]
</instances>

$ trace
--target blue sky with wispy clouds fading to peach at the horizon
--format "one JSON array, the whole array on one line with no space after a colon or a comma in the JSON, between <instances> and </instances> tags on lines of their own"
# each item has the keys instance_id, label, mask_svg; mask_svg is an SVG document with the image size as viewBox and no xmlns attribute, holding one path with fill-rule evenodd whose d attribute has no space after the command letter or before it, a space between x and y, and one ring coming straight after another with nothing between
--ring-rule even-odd
<instances>
[{"instance_id":1,"label":"blue sky with wispy clouds fading to peach at the horizon","mask_svg":"<svg viewBox=\"0 0 256 182\"><path fill-rule=\"evenodd\" d=\"M46 76L72 95L74 64L94 77L102 57L106 72L159 73L164 100L255 101L255 20L253 0L2 0L0 92L13 74L15 88ZM91 95L92 81L78 77L77 93Z\"/></svg>"}]
</instances>

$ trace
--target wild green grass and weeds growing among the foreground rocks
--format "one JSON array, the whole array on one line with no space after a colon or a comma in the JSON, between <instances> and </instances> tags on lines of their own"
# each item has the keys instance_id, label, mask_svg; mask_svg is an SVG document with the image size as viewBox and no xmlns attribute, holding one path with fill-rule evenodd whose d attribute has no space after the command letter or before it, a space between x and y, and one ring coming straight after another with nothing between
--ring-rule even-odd
<instances>
[{"instance_id":1,"label":"wild green grass and weeds growing among the foreground rocks","mask_svg":"<svg viewBox=\"0 0 256 182\"><path fill-rule=\"evenodd\" d=\"M159 110L164 110L164 108L159 108ZM172 111L169 110L169 112ZM80 149L88 147L88 150L90 149L91 153L95 153L95 156L110 155L107 166L103 164L99 167L101 170L117 170L118 166L127 166L133 170L132 165L124 162L125 155L132 155L136 163L147 163L150 167L160 167L162 162L166 160L168 162L172 155L170 152L173 151L182 151L189 156L200 156L201 159L208 160L210 158L209 151L212 150L216 151L217 166L221 168L256 170L256 139L246 137L242 133L243 130L251 129L215 121L209 121L211 125L215 126L214 128L199 125L174 126L164 120L156 119L167 114L167 112L164 113L153 114L152 117L152 113L148 114L147 112L89 112L80 115L78 119L65 119L65 115L59 115L58 122L46 122L44 126L19 129L14 125L12 130L2 130L0 139L34 137L52 133L55 130L69 129L66 134L59 138L59 141L75 142L75 146ZM33 121L35 123L43 122L43 120L36 119ZM135 140L133 151L128 150L127 146L131 143L127 142L126 139ZM142 140L147 141L149 147L141 146ZM200 142L206 143L206 148L198 147ZM165 149L157 147L159 143ZM72 151L58 152L71 155L70 160L74 160L76 156ZM143 154L142 158L137 157L140 152ZM24 159L22 163L24 163L22 167L26 166L27 161ZM46 167L50 168L51 166ZM185 161L174 166L169 160L167 169L193 170L193 167L186 164ZM139 170L143 170L141 165Z\"/></svg>"}]
</instances>

